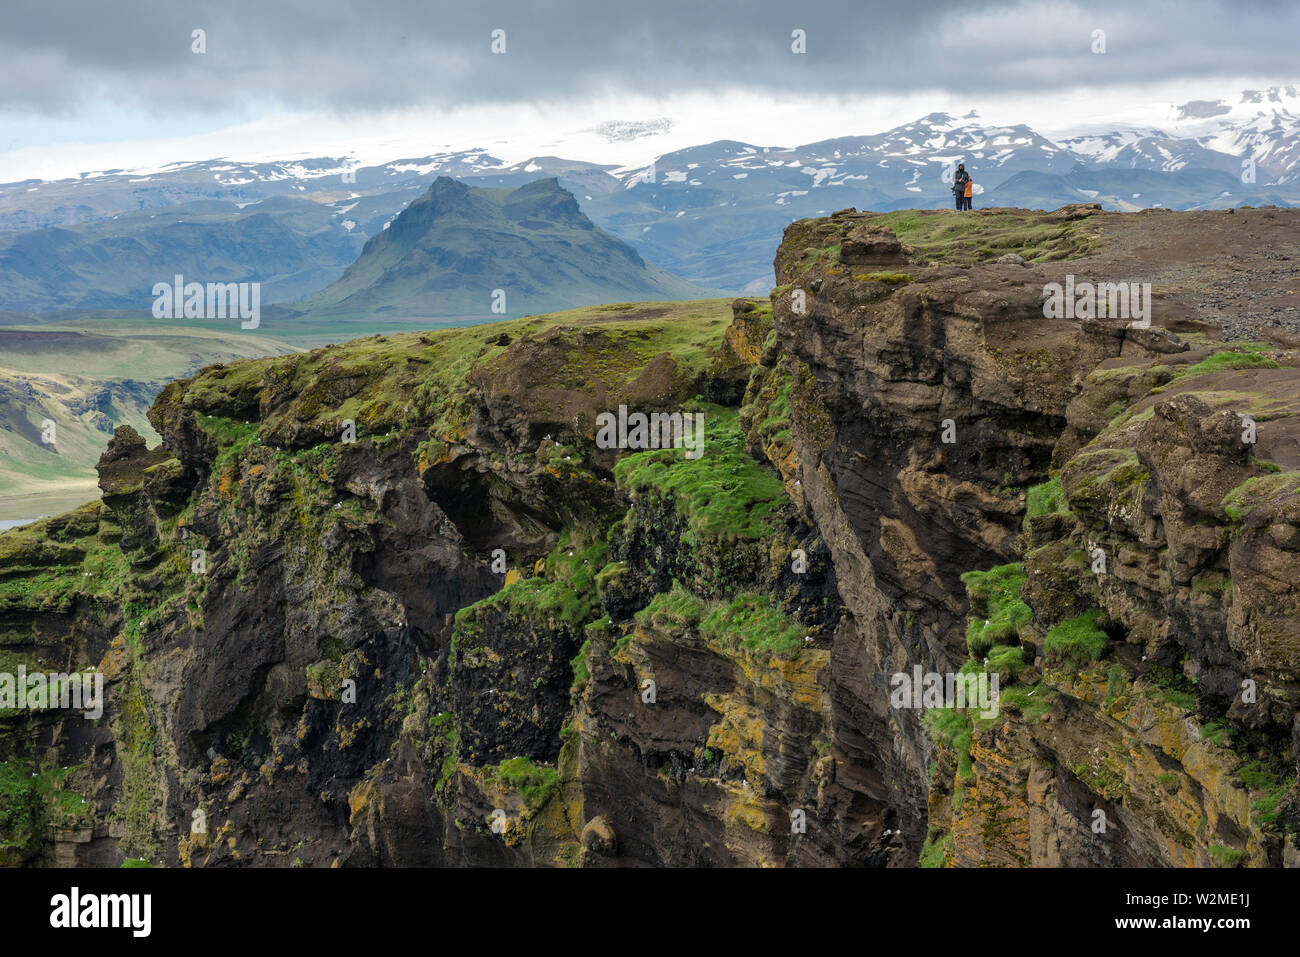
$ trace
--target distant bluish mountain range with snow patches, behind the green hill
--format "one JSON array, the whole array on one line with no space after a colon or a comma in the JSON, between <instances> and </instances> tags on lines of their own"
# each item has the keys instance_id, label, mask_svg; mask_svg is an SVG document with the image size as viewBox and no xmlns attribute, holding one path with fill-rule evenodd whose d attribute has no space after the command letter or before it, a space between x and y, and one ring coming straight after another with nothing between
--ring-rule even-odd
<instances>
[{"instance_id":1,"label":"distant bluish mountain range with snow patches, behind the green hill","mask_svg":"<svg viewBox=\"0 0 1300 957\"><path fill-rule=\"evenodd\" d=\"M645 140L653 144L653 130ZM976 207L1296 205L1300 87L1184 103L1166 127L1117 125L1057 139L1026 125L984 124L975 113L931 113L883 133L797 147L719 140L646 166L558 156L504 163L464 150L374 165L218 159L5 183L0 309L144 308L159 264L172 261L204 270L216 264L224 274L212 278L224 281L261 281L264 302L317 294L315 302L333 308L360 293L364 269L350 264L367 237L395 222L439 177L498 190L554 178L581 213L649 263L711 289L766 291L774 237L792 220L850 205L946 207L945 178L957 161L975 178ZM391 259L393 248L385 255ZM343 285L318 293L335 280ZM352 304L404 308L403 295ZM482 302L478 289L456 296Z\"/></svg>"}]
</instances>

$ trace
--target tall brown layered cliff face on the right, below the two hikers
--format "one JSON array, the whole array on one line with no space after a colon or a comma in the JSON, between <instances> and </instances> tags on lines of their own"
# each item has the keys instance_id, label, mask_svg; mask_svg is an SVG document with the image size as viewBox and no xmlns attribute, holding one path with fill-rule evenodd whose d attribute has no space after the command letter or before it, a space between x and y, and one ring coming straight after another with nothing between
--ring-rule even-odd
<instances>
[{"instance_id":1,"label":"tall brown layered cliff face on the right, below the two hikers","mask_svg":"<svg viewBox=\"0 0 1300 957\"><path fill-rule=\"evenodd\" d=\"M786 231L772 374L864 663L832 727L911 785L867 794L924 863L1290 862L1296 354L1045 319L1072 264L920 265L864 218ZM890 711L918 662L1001 714Z\"/></svg>"}]
</instances>

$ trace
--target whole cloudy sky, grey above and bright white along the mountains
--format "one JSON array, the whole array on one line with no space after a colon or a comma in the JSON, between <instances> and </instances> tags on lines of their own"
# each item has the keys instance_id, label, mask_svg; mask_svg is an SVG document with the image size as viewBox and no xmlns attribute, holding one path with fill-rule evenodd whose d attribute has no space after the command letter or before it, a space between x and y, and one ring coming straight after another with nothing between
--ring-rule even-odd
<instances>
[{"instance_id":1,"label":"whole cloudy sky, grey above and bright white along the mountains","mask_svg":"<svg viewBox=\"0 0 1300 957\"><path fill-rule=\"evenodd\" d=\"M1170 104L1300 82L1297 36L1300 4L1204 0L6 0L0 179L471 147L638 165L936 111L1169 127Z\"/></svg>"}]
</instances>

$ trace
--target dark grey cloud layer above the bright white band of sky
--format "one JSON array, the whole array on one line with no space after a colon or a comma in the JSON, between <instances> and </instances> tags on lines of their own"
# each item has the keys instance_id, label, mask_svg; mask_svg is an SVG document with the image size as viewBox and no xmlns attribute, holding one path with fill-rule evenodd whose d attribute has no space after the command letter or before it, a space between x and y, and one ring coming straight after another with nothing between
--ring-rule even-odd
<instances>
[{"instance_id":1,"label":"dark grey cloud layer above the bright white band of sky","mask_svg":"<svg viewBox=\"0 0 1300 957\"><path fill-rule=\"evenodd\" d=\"M0 108L159 111L546 100L736 86L820 94L1050 91L1296 73L1292 3L1008 4L9 0ZM963 22L970 23L962 29ZM191 31L207 31L207 53ZM494 56L493 30L507 53ZM805 30L807 53L790 52ZM1089 52L1106 30L1105 57Z\"/></svg>"}]
</instances>

